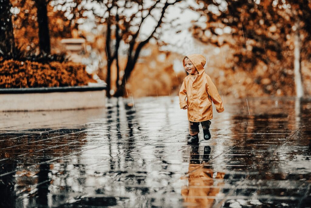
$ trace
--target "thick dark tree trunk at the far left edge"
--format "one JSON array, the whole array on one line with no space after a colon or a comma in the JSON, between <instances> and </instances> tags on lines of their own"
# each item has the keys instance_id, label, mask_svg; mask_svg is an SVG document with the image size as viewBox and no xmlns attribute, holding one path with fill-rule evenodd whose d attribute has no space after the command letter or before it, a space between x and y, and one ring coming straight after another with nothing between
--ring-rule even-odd
<instances>
[{"instance_id":1,"label":"thick dark tree trunk at the far left edge","mask_svg":"<svg viewBox=\"0 0 311 208\"><path fill-rule=\"evenodd\" d=\"M0 0L0 54L13 55L15 50L10 0Z\"/></svg>"}]
</instances>

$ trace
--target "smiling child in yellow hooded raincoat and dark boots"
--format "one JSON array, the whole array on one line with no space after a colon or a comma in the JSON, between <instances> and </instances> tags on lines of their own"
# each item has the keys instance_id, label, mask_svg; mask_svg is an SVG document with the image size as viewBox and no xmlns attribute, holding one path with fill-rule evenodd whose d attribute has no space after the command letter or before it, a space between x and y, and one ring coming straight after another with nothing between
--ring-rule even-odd
<instances>
[{"instance_id":1,"label":"smiling child in yellow hooded raincoat and dark boots","mask_svg":"<svg viewBox=\"0 0 311 208\"><path fill-rule=\"evenodd\" d=\"M199 141L199 124L201 123L204 139L209 140L213 109L211 101L218 113L223 112L224 106L217 88L211 78L205 73L206 59L200 54L191 54L183 59L183 66L189 74L183 79L179 91L180 108L188 109L189 133L188 144ZM187 98L187 100L186 100Z\"/></svg>"}]
</instances>

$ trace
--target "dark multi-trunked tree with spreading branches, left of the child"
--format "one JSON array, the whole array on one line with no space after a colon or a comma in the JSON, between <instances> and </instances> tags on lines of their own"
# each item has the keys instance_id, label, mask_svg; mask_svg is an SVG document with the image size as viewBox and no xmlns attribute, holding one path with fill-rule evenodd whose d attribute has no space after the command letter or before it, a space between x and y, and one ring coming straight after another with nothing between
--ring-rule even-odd
<instances>
[{"instance_id":1,"label":"dark multi-trunked tree with spreading branches, left of the child","mask_svg":"<svg viewBox=\"0 0 311 208\"><path fill-rule=\"evenodd\" d=\"M139 54L142 48L155 36L156 30L161 26L165 10L181 0L174 1L150 1L152 4L146 7L146 1L127 1L124 5L123 1L111 1L105 5L107 7L107 32L106 32L106 49L107 49L107 85L108 92L110 89L110 68L114 60L116 60L117 74L119 74L118 66L118 50L120 41L124 41L128 44L127 63L124 68L124 75L119 85L117 79L117 92L114 96L125 95L126 80L131 75L132 70L135 67ZM133 8L137 10L133 10ZM132 13L128 15L128 10L132 10ZM156 14L158 12L158 14ZM156 17L159 16L159 17ZM156 21L156 26L152 30L151 34L146 37L141 36L142 25L146 22L148 17L153 18ZM111 48L111 28L114 29L115 43Z\"/></svg>"}]
</instances>

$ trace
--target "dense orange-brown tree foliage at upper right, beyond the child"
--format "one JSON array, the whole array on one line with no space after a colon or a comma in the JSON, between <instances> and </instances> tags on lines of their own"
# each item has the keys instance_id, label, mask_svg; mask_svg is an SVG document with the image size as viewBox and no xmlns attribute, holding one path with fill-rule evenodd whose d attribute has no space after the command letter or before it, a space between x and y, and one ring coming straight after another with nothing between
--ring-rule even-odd
<instances>
[{"instance_id":1,"label":"dense orange-brown tree foliage at upper right, beyond the child","mask_svg":"<svg viewBox=\"0 0 311 208\"><path fill-rule=\"evenodd\" d=\"M207 18L205 28L194 26L194 36L216 46L228 44L234 50L235 68L252 71L256 65L267 65L264 87L268 94L285 85L292 85L293 36L296 28L310 34L308 1L212 1L198 0L193 8ZM295 26L295 27L293 27ZM298 29L298 28L297 28ZM226 38L226 31L232 39ZM310 36L310 35L307 35ZM304 39L305 35L304 35ZM256 82L261 82L259 77ZM293 94L294 87L285 90Z\"/></svg>"}]
</instances>

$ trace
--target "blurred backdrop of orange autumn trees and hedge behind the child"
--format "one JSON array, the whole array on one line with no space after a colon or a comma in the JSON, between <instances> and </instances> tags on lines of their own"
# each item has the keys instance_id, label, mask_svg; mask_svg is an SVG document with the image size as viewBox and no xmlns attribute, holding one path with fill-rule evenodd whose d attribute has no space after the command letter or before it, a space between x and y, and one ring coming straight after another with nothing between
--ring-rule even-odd
<instances>
[{"instance_id":1,"label":"blurred backdrop of orange autumn trees and hedge behind the child","mask_svg":"<svg viewBox=\"0 0 311 208\"><path fill-rule=\"evenodd\" d=\"M203 54L229 97L311 93L310 0L0 0L0 88L177 95ZM76 62L73 64L72 62Z\"/></svg>"}]
</instances>

